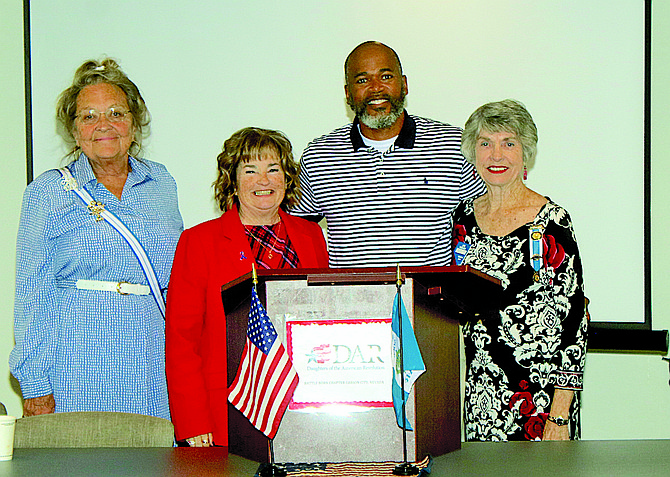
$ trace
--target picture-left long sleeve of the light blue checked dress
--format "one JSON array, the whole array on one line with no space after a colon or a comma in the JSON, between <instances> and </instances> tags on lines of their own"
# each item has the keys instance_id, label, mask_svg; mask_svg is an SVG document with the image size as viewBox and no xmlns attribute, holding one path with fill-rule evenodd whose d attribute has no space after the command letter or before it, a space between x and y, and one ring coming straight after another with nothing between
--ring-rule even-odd
<instances>
[{"instance_id":1,"label":"picture-left long sleeve of the light blue checked dress","mask_svg":"<svg viewBox=\"0 0 670 477\"><path fill-rule=\"evenodd\" d=\"M52 394L49 374L56 354L58 303L55 239L50 238L51 197L35 183L23 196L16 246L14 339L9 366L24 399Z\"/></svg>"}]
</instances>

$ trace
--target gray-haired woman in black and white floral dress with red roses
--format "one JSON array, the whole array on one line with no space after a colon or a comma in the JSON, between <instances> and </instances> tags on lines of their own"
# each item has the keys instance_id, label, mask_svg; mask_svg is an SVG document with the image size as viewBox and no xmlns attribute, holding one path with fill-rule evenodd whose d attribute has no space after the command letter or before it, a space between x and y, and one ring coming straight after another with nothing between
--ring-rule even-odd
<instances>
[{"instance_id":1,"label":"gray-haired woman in black and white floral dress with red roses","mask_svg":"<svg viewBox=\"0 0 670 477\"><path fill-rule=\"evenodd\" d=\"M537 128L521 103L488 103L468 119L462 150L487 192L454 211L456 263L504 289L498 314L463 326L465 437L575 439L588 314L570 216L524 184Z\"/></svg>"}]
</instances>

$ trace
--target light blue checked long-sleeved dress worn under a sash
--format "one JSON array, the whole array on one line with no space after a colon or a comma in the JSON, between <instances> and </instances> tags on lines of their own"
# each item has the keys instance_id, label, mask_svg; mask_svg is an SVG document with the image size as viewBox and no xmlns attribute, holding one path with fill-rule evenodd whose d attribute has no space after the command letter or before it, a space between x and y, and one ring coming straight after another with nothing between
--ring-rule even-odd
<instances>
[{"instance_id":1,"label":"light blue checked long-sleeved dress worn under a sash","mask_svg":"<svg viewBox=\"0 0 670 477\"><path fill-rule=\"evenodd\" d=\"M177 186L161 164L130 158L121 200L83 154L68 167L79 186L133 231L166 288L183 223ZM165 322L151 295L78 290L78 279L147 285L121 235L47 171L23 197L9 358L24 398L54 394L56 412L120 411L170 417Z\"/></svg>"}]
</instances>

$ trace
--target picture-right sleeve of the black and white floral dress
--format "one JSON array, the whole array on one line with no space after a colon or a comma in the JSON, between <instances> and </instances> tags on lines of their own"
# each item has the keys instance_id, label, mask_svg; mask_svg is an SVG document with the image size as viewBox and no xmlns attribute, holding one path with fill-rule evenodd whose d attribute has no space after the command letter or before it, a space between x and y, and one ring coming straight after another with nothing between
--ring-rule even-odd
<instances>
[{"instance_id":1,"label":"picture-right sleeve of the black and white floral dress","mask_svg":"<svg viewBox=\"0 0 670 477\"><path fill-rule=\"evenodd\" d=\"M558 389L583 388L588 315L579 249L568 213L559 212L544 233L544 263L553 274L557 316L561 320L560 347L555 354L555 385Z\"/></svg>"}]
</instances>

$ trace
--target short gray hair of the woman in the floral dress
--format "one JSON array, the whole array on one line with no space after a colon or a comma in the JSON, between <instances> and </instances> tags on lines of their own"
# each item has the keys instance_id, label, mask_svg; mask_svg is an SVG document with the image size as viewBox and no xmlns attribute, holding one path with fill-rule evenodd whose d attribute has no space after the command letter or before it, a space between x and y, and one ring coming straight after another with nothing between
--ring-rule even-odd
<instances>
[{"instance_id":1,"label":"short gray hair of the woman in the floral dress","mask_svg":"<svg viewBox=\"0 0 670 477\"><path fill-rule=\"evenodd\" d=\"M526 107L514 99L486 103L475 110L463 128L461 152L470 163L475 163L477 138L482 130L491 133L511 132L519 138L523 163L532 165L537 156L537 126Z\"/></svg>"}]
</instances>

